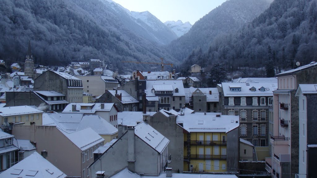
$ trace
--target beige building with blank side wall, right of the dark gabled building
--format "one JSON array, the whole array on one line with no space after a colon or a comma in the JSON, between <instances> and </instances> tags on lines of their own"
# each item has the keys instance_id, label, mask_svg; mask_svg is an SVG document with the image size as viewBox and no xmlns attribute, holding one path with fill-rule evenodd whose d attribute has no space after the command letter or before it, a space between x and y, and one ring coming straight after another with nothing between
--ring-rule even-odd
<instances>
[{"instance_id":1,"label":"beige building with blank side wall, right of the dark gabled building","mask_svg":"<svg viewBox=\"0 0 317 178\"><path fill-rule=\"evenodd\" d=\"M119 83L113 77L108 76L77 76L81 79L84 92L92 94L94 96L100 96L106 92L106 90L113 90L119 86Z\"/></svg>"}]
</instances>

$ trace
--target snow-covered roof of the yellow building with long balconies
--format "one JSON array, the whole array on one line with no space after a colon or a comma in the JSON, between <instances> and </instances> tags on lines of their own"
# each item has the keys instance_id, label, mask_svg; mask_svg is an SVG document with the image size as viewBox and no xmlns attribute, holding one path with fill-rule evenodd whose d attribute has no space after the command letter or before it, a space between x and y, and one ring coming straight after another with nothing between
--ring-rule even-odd
<instances>
[{"instance_id":1,"label":"snow-covered roof of the yellow building with long balconies","mask_svg":"<svg viewBox=\"0 0 317 178\"><path fill-rule=\"evenodd\" d=\"M239 127L239 116L220 115L215 112L196 112L192 114L178 115L176 123L183 124L188 132L229 132Z\"/></svg>"}]
</instances>

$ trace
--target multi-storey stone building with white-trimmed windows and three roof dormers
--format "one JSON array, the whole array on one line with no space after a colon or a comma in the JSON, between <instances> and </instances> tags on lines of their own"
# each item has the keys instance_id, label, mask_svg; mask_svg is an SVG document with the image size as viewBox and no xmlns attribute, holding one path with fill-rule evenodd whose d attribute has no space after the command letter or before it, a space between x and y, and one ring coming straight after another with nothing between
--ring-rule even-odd
<instances>
[{"instance_id":1,"label":"multi-storey stone building with white-trimmed windows and three roof dormers","mask_svg":"<svg viewBox=\"0 0 317 178\"><path fill-rule=\"evenodd\" d=\"M255 147L268 147L268 107L276 88L276 83L222 83L222 114L239 116L240 137Z\"/></svg>"}]
</instances>

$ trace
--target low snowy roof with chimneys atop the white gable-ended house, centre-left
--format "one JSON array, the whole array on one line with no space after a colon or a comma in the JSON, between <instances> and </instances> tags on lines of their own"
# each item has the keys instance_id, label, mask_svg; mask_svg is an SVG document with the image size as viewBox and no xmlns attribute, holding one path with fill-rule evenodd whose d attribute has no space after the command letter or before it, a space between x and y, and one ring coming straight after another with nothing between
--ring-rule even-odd
<instances>
[{"instance_id":1,"label":"low snowy roof with chimneys atop the white gable-ended house, centre-left","mask_svg":"<svg viewBox=\"0 0 317 178\"><path fill-rule=\"evenodd\" d=\"M101 109L101 103L70 103L62 113L95 113L96 111L109 112L114 106L113 103L103 103L104 109ZM72 105L76 105L76 111L72 111ZM91 109L81 109L81 106L91 106Z\"/></svg>"}]
</instances>

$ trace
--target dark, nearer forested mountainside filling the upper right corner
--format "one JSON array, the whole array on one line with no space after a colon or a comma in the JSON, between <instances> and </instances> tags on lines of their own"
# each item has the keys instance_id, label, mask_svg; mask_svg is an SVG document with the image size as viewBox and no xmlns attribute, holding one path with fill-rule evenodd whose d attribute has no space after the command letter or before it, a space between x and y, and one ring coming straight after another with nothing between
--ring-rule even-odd
<instances>
[{"instance_id":1,"label":"dark, nearer forested mountainside filling the upper right corner","mask_svg":"<svg viewBox=\"0 0 317 178\"><path fill-rule=\"evenodd\" d=\"M317 0L275 0L237 33L213 40L207 53L193 52L184 65L221 62L231 71L265 67L271 71L267 76L273 76L294 68L297 61L316 61L316 33Z\"/></svg>"}]
</instances>

